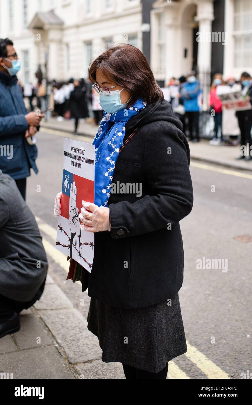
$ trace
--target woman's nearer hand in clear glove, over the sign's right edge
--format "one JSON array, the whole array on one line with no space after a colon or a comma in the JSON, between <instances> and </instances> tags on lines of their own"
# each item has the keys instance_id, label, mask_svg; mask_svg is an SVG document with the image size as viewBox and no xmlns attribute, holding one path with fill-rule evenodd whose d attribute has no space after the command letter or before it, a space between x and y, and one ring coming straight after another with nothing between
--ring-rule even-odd
<instances>
[{"instance_id":1,"label":"woman's nearer hand in clear glove, over the sign's right edge","mask_svg":"<svg viewBox=\"0 0 252 405\"><path fill-rule=\"evenodd\" d=\"M88 232L110 231L109 208L98 207L98 205L86 201L82 201L82 205L84 208L80 209L82 213L79 214L79 218L83 222L83 224L80 224L82 230Z\"/></svg>"}]
</instances>

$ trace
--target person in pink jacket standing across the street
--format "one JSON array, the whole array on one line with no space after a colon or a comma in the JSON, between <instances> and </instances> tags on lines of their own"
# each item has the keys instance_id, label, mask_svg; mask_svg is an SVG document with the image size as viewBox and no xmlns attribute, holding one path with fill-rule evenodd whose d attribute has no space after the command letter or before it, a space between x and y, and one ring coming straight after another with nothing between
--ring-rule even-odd
<instances>
[{"instance_id":1,"label":"person in pink jacket standing across the street","mask_svg":"<svg viewBox=\"0 0 252 405\"><path fill-rule=\"evenodd\" d=\"M213 77L213 82L210 91L210 111L214 112L214 137L210 141L211 145L218 145L223 141L222 135L222 102L217 96L217 87L223 85L222 75L216 73ZM218 128L220 127L220 138L218 138Z\"/></svg>"}]
</instances>

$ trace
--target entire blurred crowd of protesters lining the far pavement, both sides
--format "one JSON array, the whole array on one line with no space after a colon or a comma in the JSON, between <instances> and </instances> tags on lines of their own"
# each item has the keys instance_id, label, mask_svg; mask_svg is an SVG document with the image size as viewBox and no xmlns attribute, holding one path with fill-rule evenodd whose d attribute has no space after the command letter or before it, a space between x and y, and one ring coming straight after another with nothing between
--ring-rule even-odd
<instances>
[{"instance_id":1,"label":"entire blurred crowd of protesters lining the far pavement, both sides","mask_svg":"<svg viewBox=\"0 0 252 405\"><path fill-rule=\"evenodd\" d=\"M80 119L86 119L87 122L98 125L103 117L103 109L99 104L99 97L94 91L92 83L84 79L69 79L69 81L52 81L47 83L42 78L40 66L36 72L37 83L26 83L23 90L24 97L29 100L30 111L34 110L34 105L45 112L45 119L51 114L57 117L57 120L74 120L74 134L78 134L78 124ZM245 111L223 111L223 105L218 97L218 86L227 86L232 91L242 91L244 96L252 99L252 79L249 73L243 72L239 81L234 77L229 77L227 81L223 80L222 74L216 73L213 76L209 93L209 113L213 117L213 136L210 145L222 145L223 136L223 115L225 122L232 122L233 133L227 133L229 144L237 143L240 135L241 145L252 145L251 127L252 110ZM183 131L188 136L189 141L199 142L199 113L202 109L202 87L197 80L196 72L193 70L179 79L174 77L170 79L168 86L162 89L164 98L172 104L175 115L183 124ZM35 98L35 99L34 99ZM232 137L233 136L233 137ZM231 141L233 139L233 141ZM239 159L251 160L251 156L240 156Z\"/></svg>"}]
</instances>

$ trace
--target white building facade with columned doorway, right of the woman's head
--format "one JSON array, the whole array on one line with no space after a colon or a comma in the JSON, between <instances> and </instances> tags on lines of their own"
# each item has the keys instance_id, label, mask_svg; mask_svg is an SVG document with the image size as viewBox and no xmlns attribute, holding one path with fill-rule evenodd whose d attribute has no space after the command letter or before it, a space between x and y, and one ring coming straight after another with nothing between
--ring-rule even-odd
<instances>
[{"instance_id":1,"label":"white building facade with columned doorway, right of the woman's head","mask_svg":"<svg viewBox=\"0 0 252 405\"><path fill-rule=\"evenodd\" d=\"M155 78L166 85L197 70L204 109L214 73L252 75L252 0L155 0L150 21Z\"/></svg>"}]
</instances>

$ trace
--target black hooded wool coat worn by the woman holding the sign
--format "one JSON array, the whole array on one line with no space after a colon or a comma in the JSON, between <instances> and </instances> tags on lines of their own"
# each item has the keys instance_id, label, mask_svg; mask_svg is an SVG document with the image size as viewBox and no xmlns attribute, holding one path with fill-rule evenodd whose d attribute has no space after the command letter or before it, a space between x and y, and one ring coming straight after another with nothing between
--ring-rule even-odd
<instances>
[{"instance_id":1,"label":"black hooded wool coat worn by the woman holding the sign","mask_svg":"<svg viewBox=\"0 0 252 405\"><path fill-rule=\"evenodd\" d=\"M142 195L111 192L111 231L94 234L92 271L82 271L82 291L88 287L88 296L118 308L161 303L180 290L179 221L193 205L189 145L170 103L147 104L126 123L123 143L136 127L112 183L140 183Z\"/></svg>"}]
</instances>

